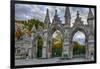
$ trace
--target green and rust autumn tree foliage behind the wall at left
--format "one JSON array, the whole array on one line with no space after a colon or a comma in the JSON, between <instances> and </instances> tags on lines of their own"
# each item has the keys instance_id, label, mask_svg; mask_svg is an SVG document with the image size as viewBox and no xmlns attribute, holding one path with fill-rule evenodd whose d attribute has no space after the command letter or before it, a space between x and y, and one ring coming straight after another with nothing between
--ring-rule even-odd
<instances>
[{"instance_id":1,"label":"green and rust autumn tree foliage behind the wall at left","mask_svg":"<svg viewBox=\"0 0 100 69\"><path fill-rule=\"evenodd\" d=\"M25 33L28 33L28 35L31 36L31 33L32 33L31 29L33 26L35 26L36 29L38 29L39 26L44 28L44 23L39 20L36 20L36 19L22 21L22 25L23 25L23 26L21 26L22 29L18 29L17 31L15 31L15 37L17 39L20 39L20 37Z\"/></svg>"}]
</instances>

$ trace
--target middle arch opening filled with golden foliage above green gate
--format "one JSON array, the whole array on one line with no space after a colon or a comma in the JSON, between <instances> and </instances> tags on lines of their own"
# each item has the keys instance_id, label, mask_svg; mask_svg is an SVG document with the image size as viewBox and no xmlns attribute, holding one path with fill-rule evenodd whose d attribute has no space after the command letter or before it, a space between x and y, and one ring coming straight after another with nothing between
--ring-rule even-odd
<instances>
[{"instance_id":1,"label":"middle arch opening filled with golden foliage above green gate","mask_svg":"<svg viewBox=\"0 0 100 69\"><path fill-rule=\"evenodd\" d=\"M62 56L62 34L59 30L56 30L52 34L52 57Z\"/></svg>"}]
</instances>

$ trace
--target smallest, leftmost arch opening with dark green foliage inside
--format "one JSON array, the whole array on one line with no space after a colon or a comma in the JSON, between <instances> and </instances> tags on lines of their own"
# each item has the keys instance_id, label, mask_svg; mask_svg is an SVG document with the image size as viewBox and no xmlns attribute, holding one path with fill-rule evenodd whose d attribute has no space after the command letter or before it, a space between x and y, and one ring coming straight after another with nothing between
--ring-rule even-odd
<instances>
[{"instance_id":1,"label":"smallest, leftmost arch opening with dark green foliage inside","mask_svg":"<svg viewBox=\"0 0 100 69\"><path fill-rule=\"evenodd\" d=\"M32 57L31 58L42 58L42 50L43 50L43 37L40 34L35 34L32 40ZM39 53L40 52L40 53Z\"/></svg>"}]
</instances>

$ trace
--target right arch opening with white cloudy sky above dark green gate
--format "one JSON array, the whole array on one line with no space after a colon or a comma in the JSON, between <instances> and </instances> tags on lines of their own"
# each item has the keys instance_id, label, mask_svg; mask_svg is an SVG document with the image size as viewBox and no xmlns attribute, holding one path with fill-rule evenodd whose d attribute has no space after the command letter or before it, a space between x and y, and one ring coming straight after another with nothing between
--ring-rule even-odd
<instances>
[{"instance_id":1,"label":"right arch opening with white cloudy sky above dark green gate","mask_svg":"<svg viewBox=\"0 0 100 69\"><path fill-rule=\"evenodd\" d=\"M86 36L83 32L77 31L72 39L73 58L85 58L86 54Z\"/></svg>"}]
</instances>

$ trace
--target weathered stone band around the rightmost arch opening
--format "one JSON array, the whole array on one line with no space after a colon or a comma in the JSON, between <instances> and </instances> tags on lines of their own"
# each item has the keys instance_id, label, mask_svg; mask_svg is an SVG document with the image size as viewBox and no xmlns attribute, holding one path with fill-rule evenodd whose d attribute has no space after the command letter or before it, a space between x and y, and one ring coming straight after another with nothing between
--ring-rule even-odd
<instances>
[{"instance_id":1,"label":"weathered stone band around the rightmost arch opening","mask_svg":"<svg viewBox=\"0 0 100 69\"><path fill-rule=\"evenodd\" d=\"M73 37L74 37L75 33L77 33L78 31L82 32L85 35L85 57L84 58L87 58L87 56L88 56L88 36L83 27L75 27L72 29L71 34L70 34L71 35L70 41L69 41L69 43L70 43L69 54L70 54L71 58L74 58L73 45L75 43L73 43Z\"/></svg>"}]
</instances>

